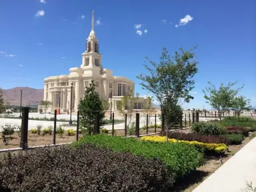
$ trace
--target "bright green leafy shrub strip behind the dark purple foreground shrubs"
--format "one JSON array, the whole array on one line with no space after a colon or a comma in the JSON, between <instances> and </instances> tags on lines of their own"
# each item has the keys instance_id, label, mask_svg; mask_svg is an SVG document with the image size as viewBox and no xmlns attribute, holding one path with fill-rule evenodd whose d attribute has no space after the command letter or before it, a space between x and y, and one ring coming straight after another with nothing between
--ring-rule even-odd
<instances>
[{"instance_id":1,"label":"bright green leafy shrub strip behind the dark purple foreground shrubs","mask_svg":"<svg viewBox=\"0 0 256 192\"><path fill-rule=\"evenodd\" d=\"M131 152L149 159L161 159L171 173L182 177L203 165L203 154L185 143L152 143L134 138L111 137L106 134L91 135L73 143L74 146L92 143L117 152ZM145 166L145 165L143 165ZM148 165L146 166L148 167Z\"/></svg>"}]
</instances>

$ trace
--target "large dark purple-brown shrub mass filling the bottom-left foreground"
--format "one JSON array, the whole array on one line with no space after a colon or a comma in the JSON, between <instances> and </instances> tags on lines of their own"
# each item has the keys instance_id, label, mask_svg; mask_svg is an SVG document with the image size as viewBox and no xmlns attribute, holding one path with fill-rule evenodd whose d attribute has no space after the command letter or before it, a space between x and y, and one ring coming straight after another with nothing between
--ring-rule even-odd
<instances>
[{"instance_id":1,"label":"large dark purple-brown shrub mass filling the bottom-left foreground","mask_svg":"<svg viewBox=\"0 0 256 192\"><path fill-rule=\"evenodd\" d=\"M159 159L114 153L88 144L9 155L1 161L0 169L3 192L165 191L174 182L174 175Z\"/></svg>"}]
</instances>

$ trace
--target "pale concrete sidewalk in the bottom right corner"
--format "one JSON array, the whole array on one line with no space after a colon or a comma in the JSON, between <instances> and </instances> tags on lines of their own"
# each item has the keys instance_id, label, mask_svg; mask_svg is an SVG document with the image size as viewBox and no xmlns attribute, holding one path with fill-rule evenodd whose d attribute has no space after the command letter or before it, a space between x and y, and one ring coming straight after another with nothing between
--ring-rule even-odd
<instances>
[{"instance_id":1,"label":"pale concrete sidewalk in the bottom right corner","mask_svg":"<svg viewBox=\"0 0 256 192\"><path fill-rule=\"evenodd\" d=\"M246 181L256 187L256 137L193 192L241 192L246 187Z\"/></svg>"}]
</instances>

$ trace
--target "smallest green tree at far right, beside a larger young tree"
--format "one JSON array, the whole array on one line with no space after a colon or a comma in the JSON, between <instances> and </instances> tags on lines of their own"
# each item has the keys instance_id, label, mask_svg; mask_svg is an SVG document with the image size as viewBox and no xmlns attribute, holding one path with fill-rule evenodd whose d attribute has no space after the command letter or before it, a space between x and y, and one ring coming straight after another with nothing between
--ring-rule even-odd
<instances>
[{"instance_id":1,"label":"smallest green tree at far right, beside a larger young tree","mask_svg":"<svg viewBox=\"0 0 256 192\"><path fill-rule=\"evenodd\" d=\"M249 110L250 105L250 99L246 99L243 96L235 97L232 102L232 110L235 111L235 115L239 117L241 113L243 113L243 110Z\"/></svg>"}]
</instances>

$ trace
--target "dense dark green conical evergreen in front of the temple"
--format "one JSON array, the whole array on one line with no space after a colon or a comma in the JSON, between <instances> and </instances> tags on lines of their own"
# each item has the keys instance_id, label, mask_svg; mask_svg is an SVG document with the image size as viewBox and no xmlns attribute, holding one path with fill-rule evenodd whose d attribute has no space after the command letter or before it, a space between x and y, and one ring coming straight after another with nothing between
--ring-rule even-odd
<instances>
[{"instance_id":1,"label":"dense dark green conical evergreen in front of the temple","mask_svg":"<svg viewBox=\"0 0 256 192\"><path fill-rule=\"evenodd\" d=\"M99 93L95 91L94 81L89 83L83 99L80 99L78 109L81 116L81 126L87 129L89 135L91 135L92 125L95 123L95 112L99 111L100 125L105 117L105 110L99 98Z\"/></svg>"}]
</instances>

